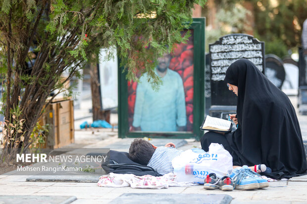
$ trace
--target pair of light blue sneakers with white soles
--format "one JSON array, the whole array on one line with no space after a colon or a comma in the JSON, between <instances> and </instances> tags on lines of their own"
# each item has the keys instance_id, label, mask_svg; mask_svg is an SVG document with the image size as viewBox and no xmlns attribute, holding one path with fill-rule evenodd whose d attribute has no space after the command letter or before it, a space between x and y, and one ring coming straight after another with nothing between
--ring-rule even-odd
<instances>
[{"instance_id":1,"label":"pair of light blue sneakers with white soles","mask_svg":"<svg viewBox=\"0 0 307 204\"><path fill-rule=\"evenodd\" d=\"M262 179L247 165L233 169L229 176L232 178L236 190L252 190L269 186L267 180Z\"/></svg>"}]
</instances>

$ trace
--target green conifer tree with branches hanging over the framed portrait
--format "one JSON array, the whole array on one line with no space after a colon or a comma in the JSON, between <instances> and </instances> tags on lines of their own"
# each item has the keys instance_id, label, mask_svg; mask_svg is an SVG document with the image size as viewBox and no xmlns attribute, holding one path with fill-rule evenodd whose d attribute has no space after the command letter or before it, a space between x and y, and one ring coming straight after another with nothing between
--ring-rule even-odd
<instances>
[{"instance_id":1,"label":"green conifer tree with branches hanging over the framed portrait","mask_svg":"<svg viewBox=\"0 0 307 204\"><path fill-rule=\"evenodd\" d=\"M86 61L96 61L101 48L109 49L110 58L116 47L128 80L148 73L149 81L158 84L153 60L187 40L189 34L181 38L180 32L192 21L194 3L205 1L0 0L2 110L11 120L18 106L20 118L26 119L22 145L33 142L31 132L51 91L53 97L66 91L61 75L80 77Z\"/></svg>"}]
</instances>

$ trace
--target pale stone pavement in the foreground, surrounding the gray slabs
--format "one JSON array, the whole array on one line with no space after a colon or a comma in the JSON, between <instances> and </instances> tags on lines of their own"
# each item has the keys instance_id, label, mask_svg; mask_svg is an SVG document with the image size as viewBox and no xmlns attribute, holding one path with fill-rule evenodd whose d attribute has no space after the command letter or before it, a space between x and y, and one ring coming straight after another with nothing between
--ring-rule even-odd
<instances>
[{"instance_id":1,"label":"pale stone pavement in the foreground, surrounding the gray slabs","mask_svg":"<svg viewBox=\"0 0 307 204\"><path fill-rule=\"evenodd\" d=\"M203 186L170 187L168 189L133 189L98 187L96 183L67 182L26 182L27 176L1 176L0 195L11 196L75 196L72 204L106 204L124 193L187 194L227 194L234 200L231 204L307 204L307 177L302 181L271 182L265 189L223 192L221 190L205 190ZM1 203L1 202L0 202Z\"/></svg>"}]
</instances>

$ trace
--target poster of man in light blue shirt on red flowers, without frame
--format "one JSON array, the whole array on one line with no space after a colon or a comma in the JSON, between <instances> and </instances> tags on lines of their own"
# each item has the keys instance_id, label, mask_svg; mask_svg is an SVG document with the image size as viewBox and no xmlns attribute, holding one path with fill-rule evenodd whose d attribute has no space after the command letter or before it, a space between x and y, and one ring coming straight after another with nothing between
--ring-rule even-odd
<instances>
[{"instance_id":1,"label":"poster of man in light blue shirt on red flowers, without frame","mask_svg":"<svg viewBox=\"0 0 307 204\"><path fill-rule=\"evenodd\" d=\"M186 33L187 30L182 32L182 36ZM140 79L139 84L138 82L127 82L129 131L136 130L134 124L140 126L141 129L139 130L141 131L192 131L193 30L190 33L191 36L187 43L176 44L176 48L170 53L168 70L165 71L166 75L164 76L167 77L165 80L168 81L162 80L163 84L157 91L153 90L147 82L146 76ZM157 66L159 66L159 59ZM158 67L155 69L158 69ZM157 71L155 72L157 73ZM176 85L177 76L180 77L178 83L182 83L183 86L181 84ZM138 94L142 95L138 96ZM139 102L136 100L139 100ZM182 116L183 114L185 116ZM136 120L139 120L139 122L136 122Z\"/></svg>"}]
</instances>

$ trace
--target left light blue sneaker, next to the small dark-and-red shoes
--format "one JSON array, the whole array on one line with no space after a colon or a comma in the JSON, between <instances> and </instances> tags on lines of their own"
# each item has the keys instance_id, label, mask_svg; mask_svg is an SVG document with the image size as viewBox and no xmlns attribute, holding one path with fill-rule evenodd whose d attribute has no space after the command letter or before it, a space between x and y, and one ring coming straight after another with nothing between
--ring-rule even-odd
<instances>
[{"instance_id":1,"label":"left light blue sneaker, next to the small dark-and-red shoes","mask_svg":"<svg viewBox=\"0 0 307 204\"><path fill-rule=\"evenodd\" d=\"M236 190L252 190L259 188L258 181L247 174L242 167L233 169L229 177L234 182Z\"/></svg>"}]
</instances>

